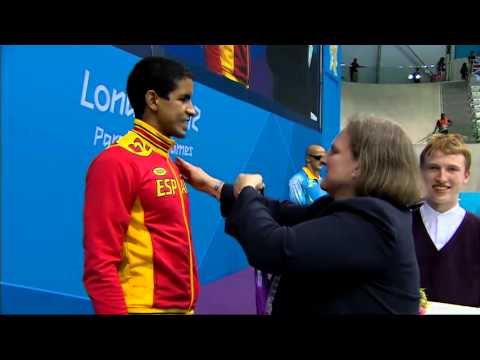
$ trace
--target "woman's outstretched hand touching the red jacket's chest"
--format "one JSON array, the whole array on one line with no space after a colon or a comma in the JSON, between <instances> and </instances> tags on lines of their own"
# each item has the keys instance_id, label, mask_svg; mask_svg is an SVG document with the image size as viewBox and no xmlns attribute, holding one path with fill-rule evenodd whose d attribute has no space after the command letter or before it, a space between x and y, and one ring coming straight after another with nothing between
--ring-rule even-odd
<instances>
[{"instance_id":1,"label":"woman's outstretched hand touching the red jacket's chest","mask_svg":"<svg viewBox=\"0 0 480 360\"><path fill-rule=\"evenodd\" d=\"M201 167L177 157L175 164L185 181L198 191L210 194L217 199L220 197L223 182L207 174Z\"/></svg>"}]
</instances>

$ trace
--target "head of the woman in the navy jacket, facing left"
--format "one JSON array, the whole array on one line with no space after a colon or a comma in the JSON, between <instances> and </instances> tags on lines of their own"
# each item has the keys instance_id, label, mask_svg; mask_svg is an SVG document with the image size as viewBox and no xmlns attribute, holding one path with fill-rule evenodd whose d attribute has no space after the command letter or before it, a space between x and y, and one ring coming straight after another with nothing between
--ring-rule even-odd
<instances>
[{"instance_id":1,"label":"head of the woman in the navy jacket, facing left","mask_svg":"<svg viewBox=\"0 0 480 360\"><path fill-rule=\"evenodd\" d=\"M411 140L396 123L353 115L326 156L322 188L334 198L372 196L410 206L420 198Z\"/></svg>"}]
</instances>

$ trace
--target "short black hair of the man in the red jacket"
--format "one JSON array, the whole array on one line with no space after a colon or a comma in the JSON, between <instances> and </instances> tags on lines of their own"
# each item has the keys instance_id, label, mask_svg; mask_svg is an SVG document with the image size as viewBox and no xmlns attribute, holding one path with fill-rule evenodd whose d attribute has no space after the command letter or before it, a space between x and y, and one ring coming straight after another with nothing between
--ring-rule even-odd
<instances>
[{"instance_id":1,"label":"short black hair of the man in the red jacket","mask_svg":"<svg viewBox=\"0 0 480 360\"><path fill-rule=\"evenodd\" d=\"M177 88L178 81L191 79L192 73L181 63L149 56L140 60L128 76L127 95L136 118L142 118L145 110L145 94L154 90L158 96L168 99Z\"/></svg>"}]
</instances>

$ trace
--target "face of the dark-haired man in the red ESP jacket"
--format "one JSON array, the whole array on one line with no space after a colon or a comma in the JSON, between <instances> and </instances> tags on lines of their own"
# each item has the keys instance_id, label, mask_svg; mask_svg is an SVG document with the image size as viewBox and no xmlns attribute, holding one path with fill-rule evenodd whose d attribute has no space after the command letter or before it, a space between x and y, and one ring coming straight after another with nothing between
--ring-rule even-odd
<instances>
[{"instance_id":1,"label":"face of the dark-haired man in the red ESP jacket","mask_svg":"<svg viewBox=\"0 0 480 360\"><path fill-rule=\"evenodd\" d=\"M169 98L158 97L156 111L158 129L165 136L183 138L187 132L188 120L196 114L192 104L193 81L189 78L177 82Z\"/></svg>"}]
</instances>

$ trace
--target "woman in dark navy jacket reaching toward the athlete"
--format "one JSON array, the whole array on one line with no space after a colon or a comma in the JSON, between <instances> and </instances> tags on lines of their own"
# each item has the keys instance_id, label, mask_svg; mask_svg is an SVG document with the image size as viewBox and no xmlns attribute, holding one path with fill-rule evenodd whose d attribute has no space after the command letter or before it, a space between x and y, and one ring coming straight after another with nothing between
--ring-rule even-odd
<instances>
[{"instance_id":1,"label":"woman in dark navy jacket reaching toward the athlete","mask_svg":"<svg viewBox=\"0 0 480 360\"><path fill-rule=\"evenodd\" d=\"M220 200L225 231L250 265L281 274L272 315L418 314L408 206L420 198L420 179L397 124L350 119L324 160L329 196L310 206L262 196L259 174L229 185L178 157L177 164L195 189Z\"/></svg>"}]
</instances>

